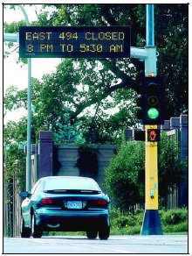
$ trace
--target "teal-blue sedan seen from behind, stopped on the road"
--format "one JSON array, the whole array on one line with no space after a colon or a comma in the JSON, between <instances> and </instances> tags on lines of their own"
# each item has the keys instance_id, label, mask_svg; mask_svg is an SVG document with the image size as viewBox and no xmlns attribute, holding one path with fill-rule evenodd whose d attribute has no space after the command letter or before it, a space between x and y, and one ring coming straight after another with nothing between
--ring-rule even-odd
<instances>
[{"instance_id":1,"label":"teal-blue sedan seen from behind, stopped on the road","mask_svg":"<svg viewBox=\"0 0 192 256\"><path fill-rule=\"evenodd\" d=\"M109 197L96 181L76 176L38 180L21 206L21 237L41 238L43 231L86 231L87 238L107 239Z\"/></svg>"}]
</instances>

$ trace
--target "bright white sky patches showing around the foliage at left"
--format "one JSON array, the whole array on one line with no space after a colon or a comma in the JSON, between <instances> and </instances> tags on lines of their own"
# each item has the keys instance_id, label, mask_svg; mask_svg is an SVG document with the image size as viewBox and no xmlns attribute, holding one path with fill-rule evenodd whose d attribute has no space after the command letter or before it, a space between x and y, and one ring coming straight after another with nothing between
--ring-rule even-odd
<instances>
[{"instance_id":1,"label":"bright white sky patches showing around the foliage at left","mask_svg":"<svg viewBox=\"0 0 192 256\"><path fill-rule=\"evenodd\" d=\"M25 5L24 9L28 15L29 21L37 20L36 11L41 8L40 4L34 4L34 6ZM18 22L24 19L24 13L20 8L17 10L4 10L3 11L3 21L7 23ZM15 43L18 46L18 43ZM4 46L6 50L6 46ZM3 60L3 95L6 89L10 86L17 86L18 89L26 89L28 87L28 67L23 65L23 63L18 63L18 51L10 53L10 56ZM45 74L53 73L60 59L53 58L41 58L41 59L31 59L31 76L41 80L42 76ZM8 112L6 117L4 117L4 123L9 120L17 121L20 117L26 116L27 110L12 110Z\"/></svg>"}]
</instances>

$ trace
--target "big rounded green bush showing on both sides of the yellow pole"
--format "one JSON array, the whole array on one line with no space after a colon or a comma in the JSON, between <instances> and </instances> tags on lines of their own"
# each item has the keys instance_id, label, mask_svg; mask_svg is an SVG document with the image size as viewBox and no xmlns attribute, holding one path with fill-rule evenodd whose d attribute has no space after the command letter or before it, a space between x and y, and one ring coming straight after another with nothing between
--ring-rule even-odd
<instances>
[{"instance_id":1,"label":"big rounded green bush showing on both sides of the yellow pole","mask_svg":"<svg viewBox=\"0 0 192 256\"><path fill-rule=\"evenodd\" d=\"M166 199L168 193L181 183L184 163L179 158L177 143L162 134L158 143L159 197ZM141 141L122 142L120 149L106 167L106 183L113 203L120 210L130 210L145 198L145 148Z\"/></svg>"}]
</instances>

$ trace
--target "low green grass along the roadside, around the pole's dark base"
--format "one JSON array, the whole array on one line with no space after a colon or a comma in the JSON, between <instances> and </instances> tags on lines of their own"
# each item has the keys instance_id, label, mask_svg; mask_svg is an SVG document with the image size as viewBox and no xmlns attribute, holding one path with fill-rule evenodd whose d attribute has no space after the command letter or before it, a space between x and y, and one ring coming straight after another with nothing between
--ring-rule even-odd
<instances>
[{"instance_id":1,"label":"low green grass along the roadside, around the pole's dark base","mask_svg":"<svg viewBox=\"0 0 192 256\"><path fill-rule=\"evenodd\" d=\"M188 234L188 209L159 210L163 234ZM136 210L135 214L111 210L111 235L137 235L141 233L144 210ZM47 234L46 232L45 234ZM49 235L86 236L86 232L49 232Z\"/></svg>"}]
</instances>

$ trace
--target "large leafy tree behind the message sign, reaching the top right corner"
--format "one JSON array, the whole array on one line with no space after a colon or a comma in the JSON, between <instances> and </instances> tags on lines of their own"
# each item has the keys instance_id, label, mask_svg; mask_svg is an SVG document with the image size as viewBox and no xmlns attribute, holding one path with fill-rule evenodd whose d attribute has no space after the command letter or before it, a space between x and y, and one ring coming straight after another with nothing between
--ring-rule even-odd
<instances>
[{"instance_id":1,"label":"large leafy tree behind the message sign, reaching the top right corner","mask_svg":"<svg viewBox=\"0 0 192 256\"><path fill-rule=\"evenodd\" d=\"M10 7L17 8L17 4ZM154 11L155 41L160 53L158 75L165 78L169 118L188 109L188 4L154 4ZM19 25L24 22L5 24L5 32L17 32ZM145 46L144 4L43 4L33 25L131 25L131 45ZM91 125L83 131L87 142L103 143L110 138L109 142L114 143L125 126L136 126L138 122L137 94L131 89L136 86L135 75L140 68L140 61L131 59L63 60L56 74L46 75L43 82L33 82L36 130L51 129L57 133L54 124L62 112L71 117L72 123L82 120L82 128ZM24 105L24 93L14 96L9 92L5 108ZM87 111L90 106L96 113L91 118L87 117L87 113L91 115ZM106 115L104 110L112 106L119 106L119 113Z\"/></svg>"}]
</instances>

